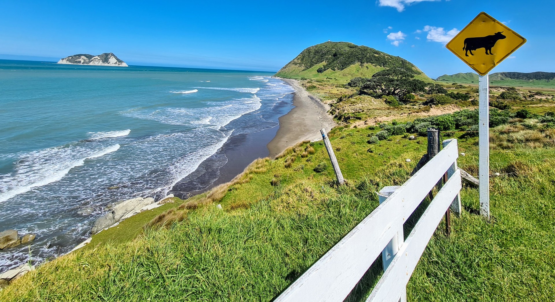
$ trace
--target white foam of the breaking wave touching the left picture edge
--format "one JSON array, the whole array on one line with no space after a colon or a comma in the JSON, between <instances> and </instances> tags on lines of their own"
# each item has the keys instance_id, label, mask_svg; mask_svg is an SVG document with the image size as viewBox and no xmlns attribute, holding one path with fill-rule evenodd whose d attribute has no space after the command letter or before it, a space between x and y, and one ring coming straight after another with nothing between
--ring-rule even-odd
<instances>
[{"instance_id":1,"label":"white foam of the breaking wave touching the left picture edge","mask_svg":"<svg viewBox=\"0 0 555 302\"><path fill-rule=\"evenodd\" d=\"M57 182L85 160L115 152L115 144L100 150L82 147L54 147L21 155L15 171L0 179L0 202L37 187Z\"/></svg>"}]
</instances>

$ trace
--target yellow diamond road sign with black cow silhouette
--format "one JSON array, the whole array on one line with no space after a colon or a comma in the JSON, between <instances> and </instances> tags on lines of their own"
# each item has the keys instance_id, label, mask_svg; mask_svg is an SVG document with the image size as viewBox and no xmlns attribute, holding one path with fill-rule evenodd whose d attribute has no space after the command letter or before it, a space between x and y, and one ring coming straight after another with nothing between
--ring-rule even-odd
<instances>
[{"instance_id":1,"label":"yellow diamond road sign with black cow silhouette","mask_svg":"<svg viewBox=\"0 0 555 302\"><path fill-rule=\"evenodd\" d=\"M481 12L446 47L480 75L526 43L521 35Z\"/></svg>"}]
</instances>

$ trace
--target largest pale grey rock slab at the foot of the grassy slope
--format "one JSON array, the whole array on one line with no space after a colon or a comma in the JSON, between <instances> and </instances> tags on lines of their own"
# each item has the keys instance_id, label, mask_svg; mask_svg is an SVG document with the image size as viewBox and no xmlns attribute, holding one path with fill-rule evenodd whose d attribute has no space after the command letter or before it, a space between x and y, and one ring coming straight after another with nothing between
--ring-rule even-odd
<instances>
[{"instance_id":1,"label":"largest pale grey rock slab at the foot of the grassy slope","mask_svg":"<svg viewBox=\"0 0 555 302\"><path fill-rule=\"evenodd\" d=\"M133 215L140 213L141 209L152 203L154 203L153 198L137 197L115 204L112 211L105 214L103 217L98 218L97 221L94 222L90 233L94 235L99 231L108 228L108 226L132 217Z\"/></svg>"}]
</instances>

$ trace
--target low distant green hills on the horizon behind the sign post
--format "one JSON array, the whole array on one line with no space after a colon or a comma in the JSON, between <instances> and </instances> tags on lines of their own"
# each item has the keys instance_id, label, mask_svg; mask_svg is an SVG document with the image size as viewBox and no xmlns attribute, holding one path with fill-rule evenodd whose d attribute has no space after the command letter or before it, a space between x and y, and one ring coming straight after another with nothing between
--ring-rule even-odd
<instances>
[{"instance_id":1,"label":"low distant green hills on the horizon behind the sign post","mask_svg":"<svg viewBox=\"0 0 555 302\"><path fill-rule=\"evenodd\" d=\"M444 74L436 80L441 82L477 84L478 74L472 72L452 75ZM555 88L554 80L555 72L496 72L490 74L490 85L497 86Z\"/></svg>"}]
</instances>

